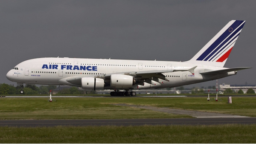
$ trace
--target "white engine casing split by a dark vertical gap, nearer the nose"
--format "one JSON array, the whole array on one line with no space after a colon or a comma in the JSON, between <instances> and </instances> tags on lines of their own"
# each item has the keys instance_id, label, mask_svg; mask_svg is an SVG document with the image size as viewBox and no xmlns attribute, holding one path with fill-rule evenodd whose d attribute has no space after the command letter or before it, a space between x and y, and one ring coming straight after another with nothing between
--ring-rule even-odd
<instances>
[{"instance_id":1,"label":"white engine casing split by a dark vertical gap, nearer the nose","mask_svg":"<svg viewBox=\"0 0 256 144\"><path fill-rule=\"evenodd\" d=\"M84 90L102 90L104 89L104 79L94 77L83 77L81 86Z\"/></svg>"}]
</instances>

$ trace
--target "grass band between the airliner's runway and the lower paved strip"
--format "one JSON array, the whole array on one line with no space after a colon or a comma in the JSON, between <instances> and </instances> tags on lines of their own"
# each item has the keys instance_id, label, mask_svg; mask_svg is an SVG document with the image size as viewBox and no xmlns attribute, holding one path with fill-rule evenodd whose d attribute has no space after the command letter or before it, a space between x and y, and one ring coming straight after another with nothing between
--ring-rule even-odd
<instances>
[{"instance_id":1,"label":"grass band between the airliner's runway and the lower paved strip","mask_svg":"<svg viewBox=\"0 0 256 144\"><path fill-rule=\"evenodd\" d=\"M215 102L202 97L183 98L0 98L0 119L136 119L189 118L191 116L156 112L136 107L114 106L114 103L169 107L174 109L256 116L254 97L227 97Z\"/></svg>"}]
</instances>

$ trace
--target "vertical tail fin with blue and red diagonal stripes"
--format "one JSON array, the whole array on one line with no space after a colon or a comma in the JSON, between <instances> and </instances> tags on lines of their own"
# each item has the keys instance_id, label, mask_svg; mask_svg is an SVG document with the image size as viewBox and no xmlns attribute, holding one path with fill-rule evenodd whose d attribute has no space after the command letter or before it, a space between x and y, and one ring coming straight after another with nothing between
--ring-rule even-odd
<instances>
[{"instance_id":1,"label":"vertical tail fin with blue and red diagonal stripes","mask_svg":"<svg viewBox=\"0 0 256 144\"><path fill-rule=\"evenodd\" d=\"M244 23L245 20L231 20L187 62L223 67Z\"/></svg>"}]
</instances>

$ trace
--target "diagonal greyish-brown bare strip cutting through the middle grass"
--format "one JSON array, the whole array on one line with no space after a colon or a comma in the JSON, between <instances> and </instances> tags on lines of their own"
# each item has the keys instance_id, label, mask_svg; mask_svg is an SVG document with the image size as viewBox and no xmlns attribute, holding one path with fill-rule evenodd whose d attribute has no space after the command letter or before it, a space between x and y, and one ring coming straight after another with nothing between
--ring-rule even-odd
<instances>
[{"instance_id":1,"label":"diagonal greyish-brown bare strip cutting through the middle grass","mask_svg":"<svg viewBox=\"0 0 256 144\"><path fill-rule=\"evenodd\" d=\"M117 106L126 106L126 107L137 107L147 110L154 110L164 113L173 113L173 114L180 114L180 115L189 115L196 118L248 118L248 116L236 116L231 114L225 113L209 113L209 112L200 112L194 110L178 110L178 109L171 109L168 107L151 107L151 106L143 106L143 105L130 105L130 104L113 104Z\"/></svg>"}]
</instances>

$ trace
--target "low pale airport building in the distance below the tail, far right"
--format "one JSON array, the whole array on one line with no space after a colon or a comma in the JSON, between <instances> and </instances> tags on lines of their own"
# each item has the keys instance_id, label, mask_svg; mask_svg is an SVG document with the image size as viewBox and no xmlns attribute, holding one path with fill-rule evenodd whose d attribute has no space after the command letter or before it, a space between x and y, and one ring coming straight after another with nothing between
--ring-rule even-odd
<instances>
[{"instance_id":1,"label":"low pale airport building in the distance below the tail, far right","mask_svg":"<svg viewBox=\"0 0 256 144\"><path fill-rule=\"evenodd\" d=\"M227 88L230 88L231 90L234 90L236 93L240 89L243 90L244 93L246 93L249 88L252 88L254 91L256 91L256 85L226 85L224 83L222 85L220 85L220 89L219 90L224 91Z\"/></svg>"}]
</instances>

